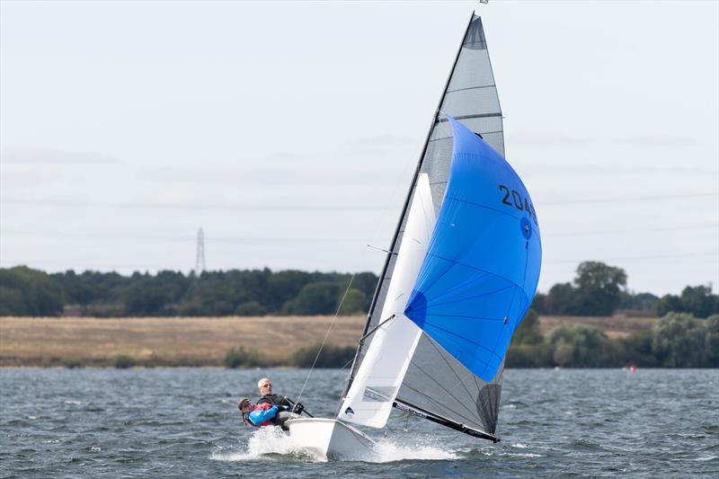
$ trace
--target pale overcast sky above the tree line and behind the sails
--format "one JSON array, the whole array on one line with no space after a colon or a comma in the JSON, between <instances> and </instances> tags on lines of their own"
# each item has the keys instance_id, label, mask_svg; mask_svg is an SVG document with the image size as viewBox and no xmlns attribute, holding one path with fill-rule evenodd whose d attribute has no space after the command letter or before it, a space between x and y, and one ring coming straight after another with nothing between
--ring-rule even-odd
<instances>
[{"instance_id":1,"label":"pale overcast sky above the tree line and behind the sails","mask_svg":"<svg viewBox=\"0 0 719 479\"><path fill-rule=\"evenodd\" d=\"M473 10L539 290L716 292L715 1L3 0L0 267L379 272Z\"/></svg>"}]
</instances>

